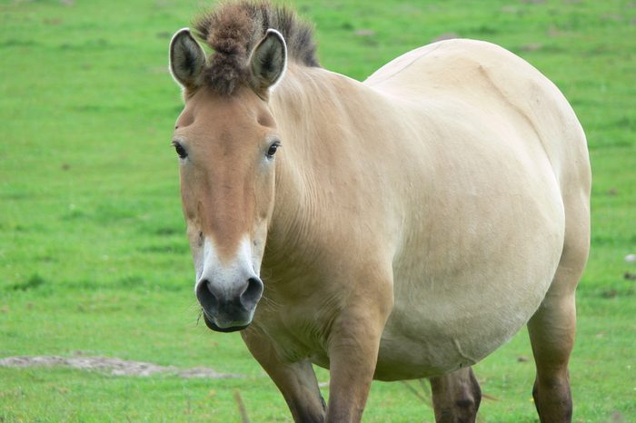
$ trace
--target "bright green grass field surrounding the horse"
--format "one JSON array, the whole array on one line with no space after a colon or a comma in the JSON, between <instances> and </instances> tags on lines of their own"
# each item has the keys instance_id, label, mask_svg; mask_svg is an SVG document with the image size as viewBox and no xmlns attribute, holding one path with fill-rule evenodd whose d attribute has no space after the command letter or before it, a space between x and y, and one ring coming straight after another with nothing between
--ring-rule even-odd
<instances>
[{"instance_id":1,"label":"bright green grass field surrounding the horse","mask_svg":"<svg viewBox=\"0 0 636 423\"><path fill-rule=\"evenodd\" d=\"M0 0L0 358L101 355L244 378L0 367L0 422L240 421L234 392L251 421L291 421L239 335L197 325L166 53L201 5ZM561 87L594 175L574 420L636 421L636 281L625 277L636 263L624 261L636 253L636 2L293 5L316 24L323 66L354 78L456 34L502 44ZM482 421L537 421L524 331L475 371L492 398ZM377 382L364 421L432 421L432 410L402 383Z\"/></svg>"}]
</instances>

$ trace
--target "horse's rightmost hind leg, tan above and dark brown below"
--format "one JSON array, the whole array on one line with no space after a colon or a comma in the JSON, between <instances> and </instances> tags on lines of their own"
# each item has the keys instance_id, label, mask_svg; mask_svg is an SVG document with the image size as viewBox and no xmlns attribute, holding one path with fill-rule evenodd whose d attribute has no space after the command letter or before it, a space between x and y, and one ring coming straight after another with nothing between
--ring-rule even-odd
<instances>
[{"instance_id":1,"label":"horse's rightmost hind leg, tan above and dark brown below","mask_svg":"<svg viewBox=\"0 0 636 423\"><path fill-rule=\"evenodd\" d=\"M566 228L561 261L550 290L528 322L537 367L532 397L542 423L571 421L568 361L576 330L574 290L589 250L589 223L587 216L580 217L580 226Z\"/></svg>"}]
</instances>

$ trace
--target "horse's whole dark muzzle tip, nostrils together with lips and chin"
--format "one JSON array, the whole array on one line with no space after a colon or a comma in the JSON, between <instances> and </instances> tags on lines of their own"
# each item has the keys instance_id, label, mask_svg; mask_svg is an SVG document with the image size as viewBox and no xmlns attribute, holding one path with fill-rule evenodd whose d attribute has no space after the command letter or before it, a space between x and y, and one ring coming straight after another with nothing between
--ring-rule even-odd
<instances>
[{"instance_id":1,"label":"horse's whole dark muzzle tip, nostrils together with lips and chin","mask_svg":"<svg viewBox=\"0 0 636 423\"><path fill-rule=\"evenodd\" d=\"M263 281L250 278L232 291L221 289L210 280L201 280L196 287L196 298L204 311L205 324L211 330L234 332L245 329L253 318L258 300L263 295Z\"/></svg>"}]
</instances>

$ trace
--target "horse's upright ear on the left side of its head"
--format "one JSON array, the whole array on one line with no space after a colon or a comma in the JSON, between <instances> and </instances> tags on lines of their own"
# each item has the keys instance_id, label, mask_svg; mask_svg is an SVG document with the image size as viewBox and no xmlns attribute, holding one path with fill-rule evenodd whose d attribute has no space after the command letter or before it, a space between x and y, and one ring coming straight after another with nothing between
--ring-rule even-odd
<instances>
[{"instance_id":1,"label":"horse's upright ear on the left side of its head","mask_svg":"<svg viewBox=\"0 0 636 423\"><path fill-rule=\"evenodd\" d=\"M189 28L180 29L170 42L170 72L184 88L195 88L204 69L205 52Z\"/></svg>"}]
</instances>

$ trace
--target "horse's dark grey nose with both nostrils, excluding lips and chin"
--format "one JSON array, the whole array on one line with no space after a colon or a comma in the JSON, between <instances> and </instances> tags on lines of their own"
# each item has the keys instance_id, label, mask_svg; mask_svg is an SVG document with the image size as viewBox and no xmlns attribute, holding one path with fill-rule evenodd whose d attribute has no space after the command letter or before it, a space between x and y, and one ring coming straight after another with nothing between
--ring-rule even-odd
<instances>
[{"instance_id":1,"label":"horse's dark grey nose with both nostrils, excluding lips and chin","mask_svg":"<svg viewBox=\"0 0 636 423\"><path fill-rule=\"evenodd\" d=\"M262 295L263 281L258 278L250 278L234 290L224 290L211 280L201 280L196 287L197 300L213 319L224 314L231 320L240 320L240 315L252 310Z\"/></svg>"}]
</instances>

